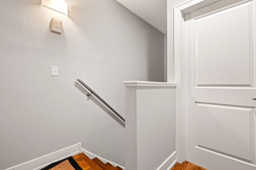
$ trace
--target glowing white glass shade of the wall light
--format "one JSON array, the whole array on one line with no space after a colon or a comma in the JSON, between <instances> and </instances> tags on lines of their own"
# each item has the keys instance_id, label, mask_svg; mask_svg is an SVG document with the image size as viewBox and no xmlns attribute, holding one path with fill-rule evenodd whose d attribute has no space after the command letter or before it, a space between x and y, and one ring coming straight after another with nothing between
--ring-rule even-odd
<instances>
[{"instance_id":1,"label":"glowing white glass shade of the wall light","mask_svg":"<svg viewBox=\"0 0 256 170\"><path fill-rule=\"evenodd\" d=\"M68 4L64 0L42 0L42 6L68 15Z\"/></svg>"}]
</instances>

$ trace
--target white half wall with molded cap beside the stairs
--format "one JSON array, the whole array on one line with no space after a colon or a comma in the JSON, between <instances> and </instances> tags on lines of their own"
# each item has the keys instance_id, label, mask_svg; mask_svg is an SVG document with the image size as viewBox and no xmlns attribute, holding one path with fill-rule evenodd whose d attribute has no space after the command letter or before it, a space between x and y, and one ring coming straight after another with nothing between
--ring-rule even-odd
<instances>
[{"instance_id":1,"label":"white half wall with molded cap beside the stairs","mask_svg":"<svg viewBox=\"0 0 256 170\"><path fill-rule=\"evenodd\" d=\"M124 82L126 170L166 170L176 160L175 85Z\"/></svg>"}]
</instances>

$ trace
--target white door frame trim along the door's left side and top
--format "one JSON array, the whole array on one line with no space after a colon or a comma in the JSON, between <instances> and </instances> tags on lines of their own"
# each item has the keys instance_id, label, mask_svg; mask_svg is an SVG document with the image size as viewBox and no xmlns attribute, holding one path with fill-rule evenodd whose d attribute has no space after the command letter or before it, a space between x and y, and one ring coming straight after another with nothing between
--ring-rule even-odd
<instances>
[{"instance_id":1,"label":"white door frame trim along the door's left side and top","mask_svg":"<svg viewBox=\"0 0 256 170\"><path fill-rule=\"evenodd\" d=\"M174 7L174 82L176 86L176 153L177 162L185 160L184 104L184 15L220 0L190 0ZM246 0L250 2L252 0ZM168 60L173 60L168 55Z\"/></svg>"}]
</instances>

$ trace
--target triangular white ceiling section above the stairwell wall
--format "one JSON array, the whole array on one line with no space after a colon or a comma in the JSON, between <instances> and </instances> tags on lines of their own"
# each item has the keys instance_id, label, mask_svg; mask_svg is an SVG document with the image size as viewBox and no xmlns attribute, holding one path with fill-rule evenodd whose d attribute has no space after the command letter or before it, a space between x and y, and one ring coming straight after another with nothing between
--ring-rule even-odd
<instances>
[{"instance_id":1,"label":"triangular white ceiling section above the stairwell wall","mask_svg":"<svg viewBox=\"0 0 256 170\"><path fill-rule=\"evenodd\" d=\"M134 14L167 33L167 0L116 0Z\"/></svg>"}]
</instances>

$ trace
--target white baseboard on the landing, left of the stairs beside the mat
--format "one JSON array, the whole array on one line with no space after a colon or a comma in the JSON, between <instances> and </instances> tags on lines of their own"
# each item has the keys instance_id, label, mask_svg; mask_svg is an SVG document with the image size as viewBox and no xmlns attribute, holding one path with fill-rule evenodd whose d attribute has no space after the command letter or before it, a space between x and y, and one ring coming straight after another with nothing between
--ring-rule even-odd
<instances>
[{"instance_id":1,"label":"white baseboard on the landing, left of the stairs beside the mat","mask_svg":"<svg viewBox=\"0 0 256 170\"><path fill-rule=\"evenodd\" d=\"M69 156L74 156L80 152L81 152L81 143L78 143L70 147L66 147L64 149L58 150L56 152L52 152L45 156L41 156L40 158L30 160L28 162L19 164L12 168L8 168L6 170L40 170L44 166L47 166L48 164L51 164L58 160L68 158Z\"/></svg>"}]
</instances>

